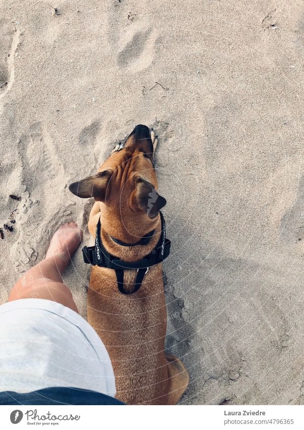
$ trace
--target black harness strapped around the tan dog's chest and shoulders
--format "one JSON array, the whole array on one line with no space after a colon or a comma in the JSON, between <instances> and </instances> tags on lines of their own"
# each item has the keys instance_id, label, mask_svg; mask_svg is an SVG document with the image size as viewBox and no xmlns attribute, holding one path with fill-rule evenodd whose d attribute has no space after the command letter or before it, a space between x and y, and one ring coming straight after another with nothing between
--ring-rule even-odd
<instances>
[{"instance_id":1,"label":"black harness strapped around the tan dog's chest and shoulders","mask_svg":"<svg viewBox=\"0 0 304 430\"><path fill-rule=\"evenodd\" d=\"M143 278L147 273L147 271L149 270L149 267L161 263L170 254L171 242L169 241L169 239L166 239L166 224L165 224L163 214L161 212L160 212L160 215L161 215L161 222L162 222L162 231L161 231L160 239L156 244L156 247L144 258L142 258L141 260L135 261L133 263L121 260L120 258L117 258L111 255L109 252L107 252L107 250L104 248L101 241L101 236L100 236L101 223L99 218L96 226L95 246L85 246L82 249L85 263L92 264L93 266L107 267L109 269L115 270L119 291L122 294L135 293L136 291L139 290L142 284ZM147 245L151 237L153 236L154 231L155 230L152 230L149 233L145 234L145 236L143 236L139 242L136 242L134 244L126 244L125 242L121 242L118 239L113 239L113 238L111 239L117 244L122 246ZM132 291L126 291L124 289L124 270L125 269L137 269L135 287Z\"/></svg>"}]
</instances>

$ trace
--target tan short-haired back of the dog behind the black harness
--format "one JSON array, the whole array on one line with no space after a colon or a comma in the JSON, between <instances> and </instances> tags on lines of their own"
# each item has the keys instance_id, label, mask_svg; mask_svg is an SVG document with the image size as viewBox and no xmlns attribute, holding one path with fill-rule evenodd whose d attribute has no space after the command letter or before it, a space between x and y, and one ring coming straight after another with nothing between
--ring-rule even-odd
<instances>
[{"instance_id":1,"label":"tan short-haired back of the dog behind the black harness","mask_svg":"<svg viewBox=\"0 0 304 430\"><path fill-rule=\"evenodd\" d=\"M126 270L124 279L134 283L135 275ZM113 276L109 269L93 267L88 320L111 358L117 398L127 404L167 404L166 303L161 268L151 267L140 289L123 296L117 289L115 273Z\"/></svg>"}]
</instances>

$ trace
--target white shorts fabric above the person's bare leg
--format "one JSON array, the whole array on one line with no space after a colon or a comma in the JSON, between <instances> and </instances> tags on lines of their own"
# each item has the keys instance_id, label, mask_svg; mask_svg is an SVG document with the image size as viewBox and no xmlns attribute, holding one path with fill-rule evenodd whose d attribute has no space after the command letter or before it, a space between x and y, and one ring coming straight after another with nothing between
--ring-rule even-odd
<instances>
[{"instance_id":1,"label":"white shorts fabric above the person's bare leg","mask_svg":"<svg viewBox=\"0 0 304 430\"><path fill-rule=\"evenodd\" d=\"M104 344L77 312L44 299L0 306L0 392L77 387L115 396Z\"/></svg>"}]
</instances>

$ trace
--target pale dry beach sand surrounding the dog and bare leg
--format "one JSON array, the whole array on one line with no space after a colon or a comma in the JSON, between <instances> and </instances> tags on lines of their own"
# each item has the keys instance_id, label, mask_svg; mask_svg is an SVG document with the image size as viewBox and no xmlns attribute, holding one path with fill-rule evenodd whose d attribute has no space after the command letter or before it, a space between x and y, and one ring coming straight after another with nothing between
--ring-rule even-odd
<instances>
[{"instance_id":1,"label":"pale dry beach sand surrounding the dog and bare leg","mask_svg":"<svg viewBox=\"0 0 304 430\"><path fill-rule=\"evenodd\" d=\"M153 126L181 403L304 404L304 5L1 3L1 302L64 221L90 243L92 201L67 184ZM84 316L88 279L79 249Z\"/></svg>"}]
</instances>

